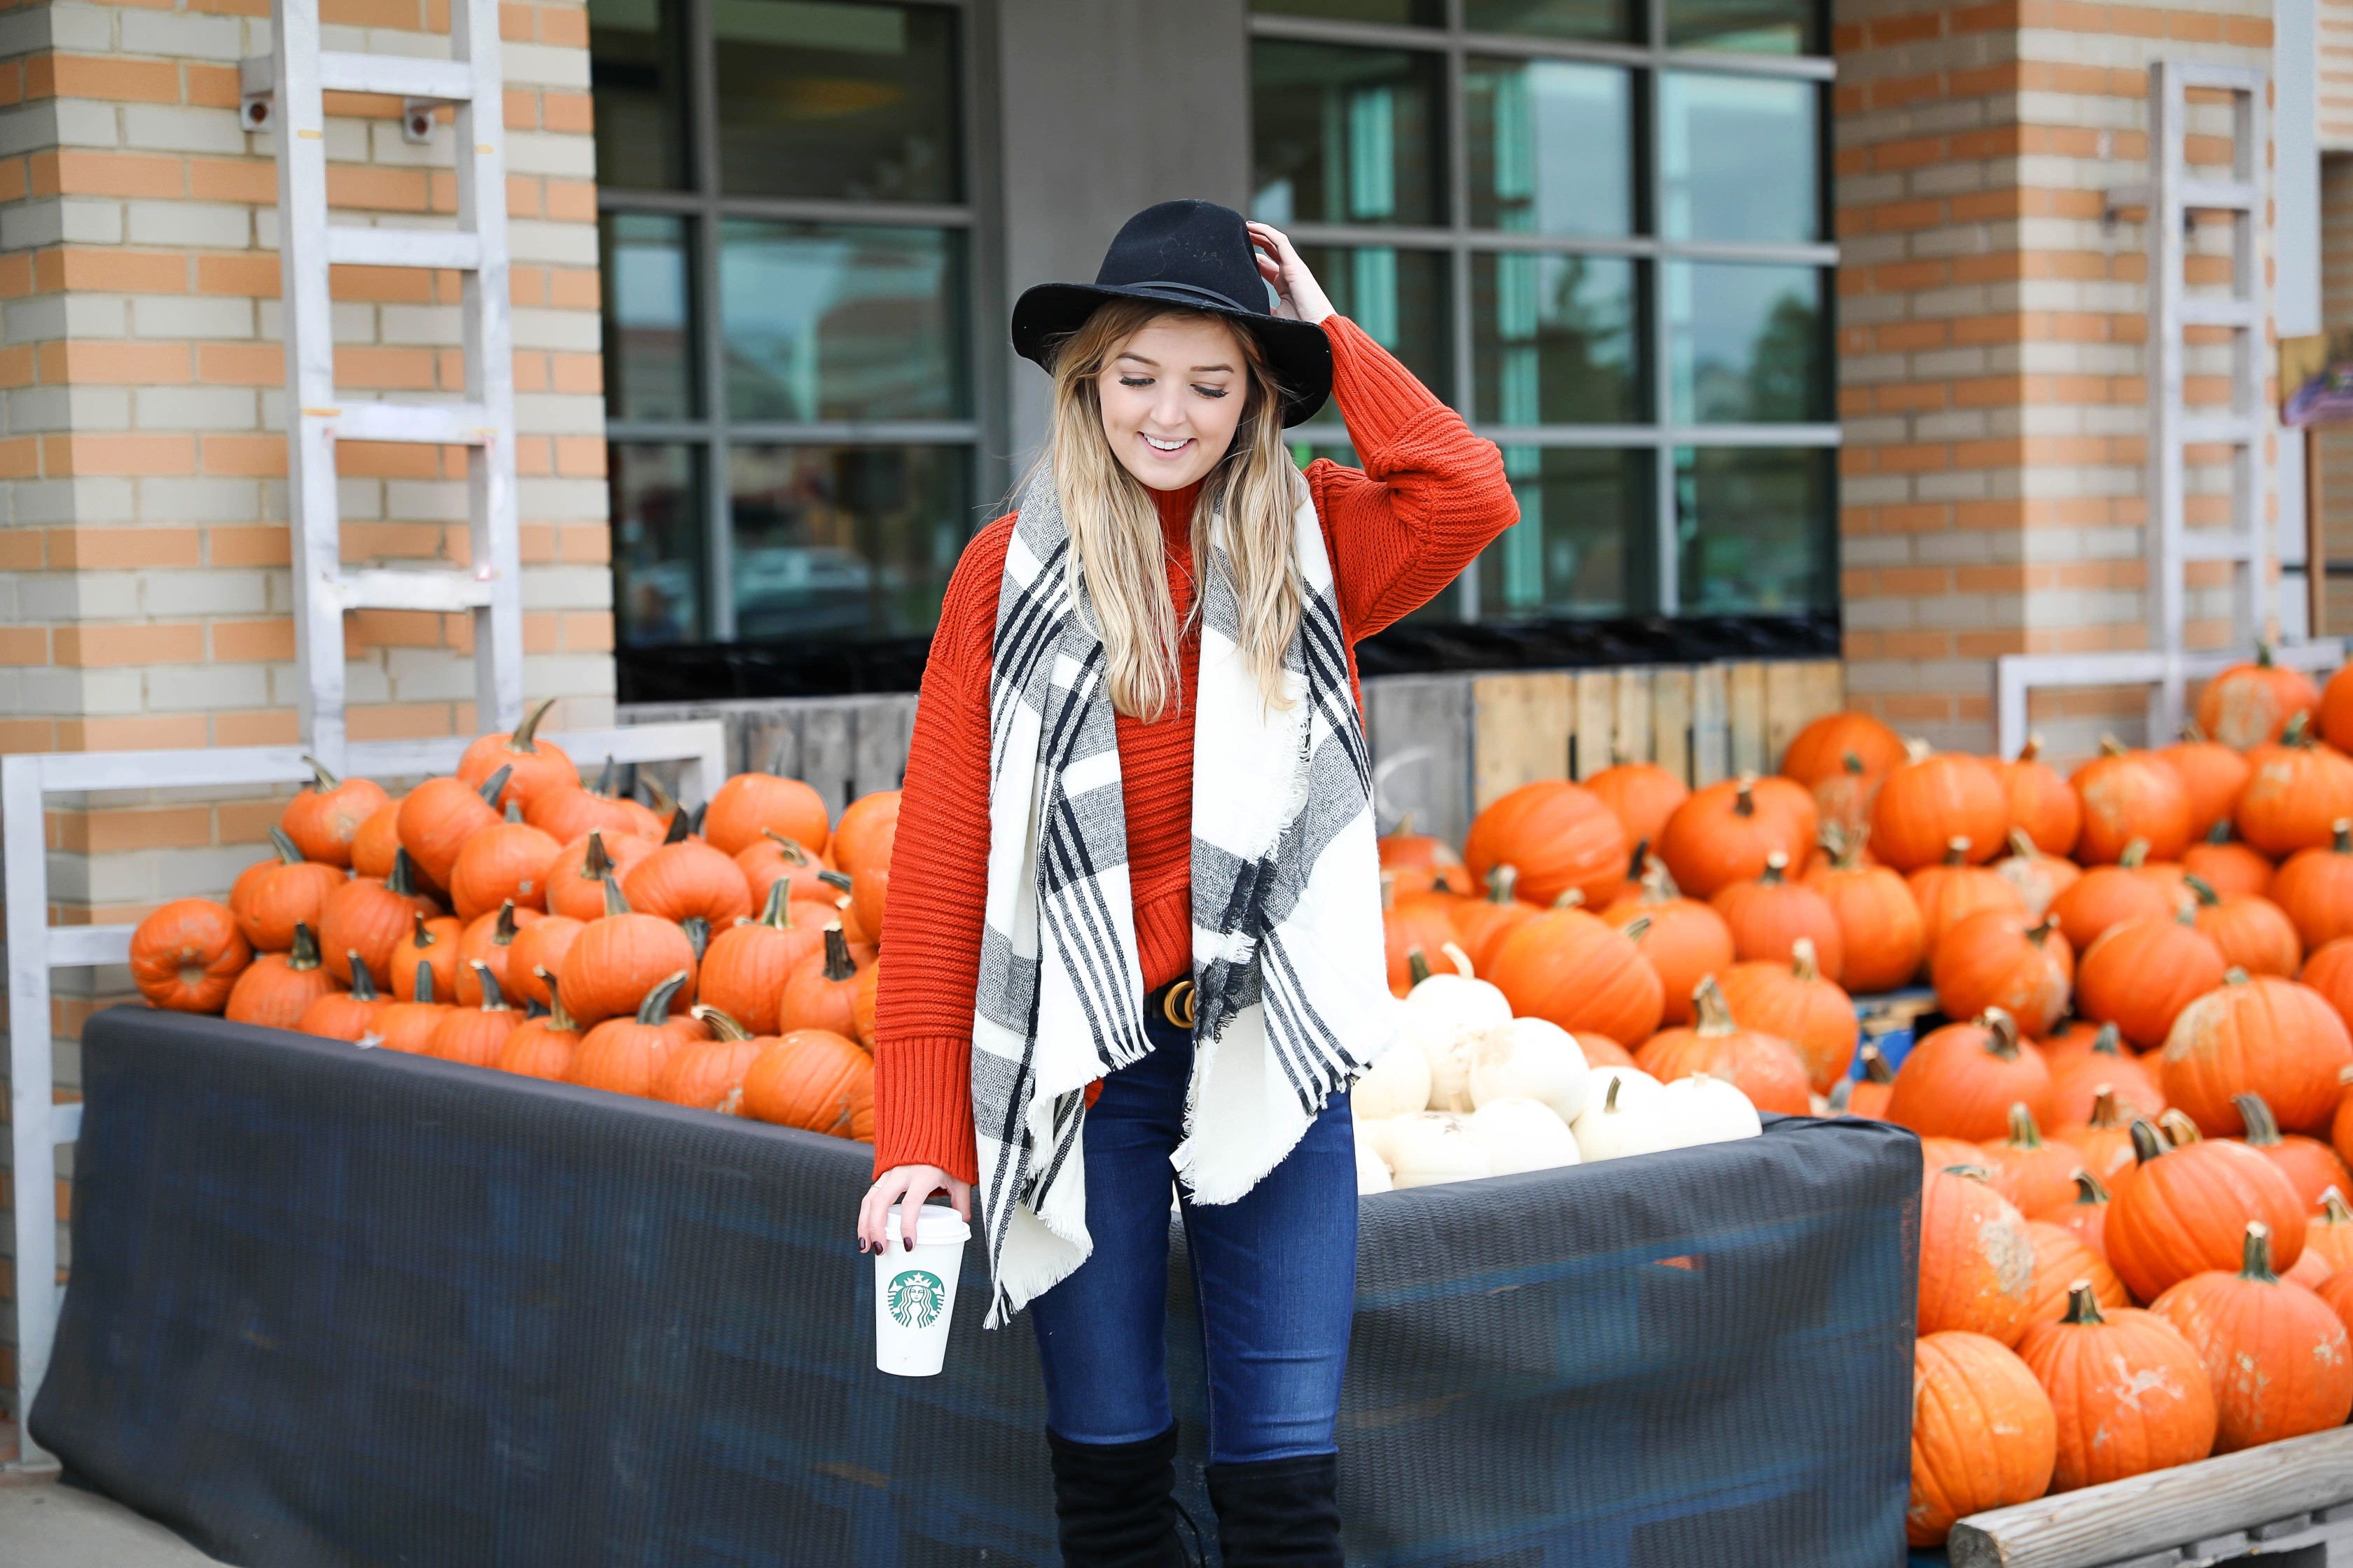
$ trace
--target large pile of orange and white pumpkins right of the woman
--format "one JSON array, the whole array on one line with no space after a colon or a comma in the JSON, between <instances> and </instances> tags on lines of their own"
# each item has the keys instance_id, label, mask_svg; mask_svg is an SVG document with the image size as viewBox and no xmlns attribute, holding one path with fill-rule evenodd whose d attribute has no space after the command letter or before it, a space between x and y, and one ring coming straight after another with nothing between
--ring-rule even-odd
<instances>
[{"instance_id":1,"label":"large pile of orange and white pumpkins right of the woman","mask_svg":"<svg viewBox=\"0 0 2353 1568\"><path fill-rule=\"evenodd\" d=\"M1522 1168L1506 1145L1562 1154L1546 1164L1633 1152L1588 1145L1595 1086L1628 1070L1664 1084L1638 1093L1638 1126L1706 1077L1755 1110L1913 1128L1913 1544L2047 1490L2339 1427L2348 752L2353 668L2318 689L2261 656L2205 686L2179 741L2108 741L2071 773L2038 743L1932 752L1840 712L1777 776L1689 790L1621 762L1532 783L1459 853L1405 823L1381 839L1391 987L1454 1023L1409 1025L1426 1048L1360 1084L1365 1140L1395 1185L1447 1161ZM1501 1025L1459 1018L1471 985ZM1889 1072L1852 997L1913 985L1953 1023ZM1525 1114L1482 1133L1480 1065L1546 1103L1567 1145L1518 1131ZM1428 1110L1405 1107L1424 1074ZM1461 1121L1452 1145L1421 1131L1431 1112ZM1694 1095L1638 1147L1727 1126Z\"/></svg>"}]
</instances>

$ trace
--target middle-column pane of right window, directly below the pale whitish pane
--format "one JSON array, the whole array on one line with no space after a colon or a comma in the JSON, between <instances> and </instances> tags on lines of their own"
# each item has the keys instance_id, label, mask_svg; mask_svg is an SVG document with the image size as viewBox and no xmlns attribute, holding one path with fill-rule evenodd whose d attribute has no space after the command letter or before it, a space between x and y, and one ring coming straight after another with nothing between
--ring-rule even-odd
<instances>
[{"instance_id":1,"label":"middle-column pane of right window, directly below the pale whitish pane","mask_svg":"<svg viewBox=\"0 0 2353 1568\"><path fill-rule=\"evenodd\" d=\"M1635 263L1624 256L1473 256L1473 418L1649 423L1638 320Z\"/></svg>"}]
</instances>

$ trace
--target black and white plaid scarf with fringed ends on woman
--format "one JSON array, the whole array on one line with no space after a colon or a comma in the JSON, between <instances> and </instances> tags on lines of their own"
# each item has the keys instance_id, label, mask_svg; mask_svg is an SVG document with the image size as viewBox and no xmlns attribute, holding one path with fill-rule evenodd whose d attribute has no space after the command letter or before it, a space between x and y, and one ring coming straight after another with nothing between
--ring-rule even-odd
<instances>
[{"instance_id":1,"label":"black and white plaid scarf with fringed ends on woman","mask_svg":"<svg viewBox=\"0 0 2353 1568\"><path fill-rule=\"evenodd\" d=\"M1193 710L1193 1081L1174 1171L1231 1204L1388 1048L1372 762L1332 562L1297 480L1289 708L1261 701L1209 527ZM972 1020L1000 1326L1087 1260L1085 1088L1144 1058L1120 745L1052 473L1021 496L988 689L988 914Z\"/></svg>"}]
</instances>

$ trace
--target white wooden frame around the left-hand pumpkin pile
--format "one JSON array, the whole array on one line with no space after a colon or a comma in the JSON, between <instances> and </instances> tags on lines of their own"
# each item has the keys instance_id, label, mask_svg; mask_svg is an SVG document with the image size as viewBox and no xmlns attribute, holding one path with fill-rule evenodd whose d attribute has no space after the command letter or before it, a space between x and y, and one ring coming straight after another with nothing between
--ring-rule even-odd
<instances>
[{"instance_id":1,"label":"white wooden frame around the left-hand pumpkin pile","mask_svg":"<svg viewBox=\"0 0 2353 1568\"><path fill-rule=\"evenodd\" d=\"M715 719L638 724L546 736L574 757L614 762L694 762L701 797L727 778L727 731ZM346 750L348 769L376 778L447 773L466 736L367 741ZM52 926L45 809L49 795L87 790L202 790L308 783L301 748L259 745L212 752L42 752L0 757L0 846L7 856L7 1020L9 1020L9 1171L14 1175L16 1265L16 1467L45 1469L28 1415L56 1342L64 1286L56 1279L56 1147L82 1131L80 1105L56 1105L56 1053L49 1023L49 971L122 964L132 926Z\"/></svg>"}]
</instances>

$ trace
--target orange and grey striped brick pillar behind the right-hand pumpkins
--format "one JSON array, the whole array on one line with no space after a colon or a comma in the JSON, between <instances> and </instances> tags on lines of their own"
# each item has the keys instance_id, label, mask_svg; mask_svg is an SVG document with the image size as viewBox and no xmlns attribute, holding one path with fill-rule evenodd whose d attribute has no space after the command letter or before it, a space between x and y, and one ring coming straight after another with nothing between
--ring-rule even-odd
<instances>
[{"instance_id":1,"label":"orange and grey striped brick pillar behind the right-hand pumpkins","mask_svg":"<svg viewBox=\"0 0 2353 1568\"><path fill-rule=\"evenodd\" d=\"M2146 646L2144 233L2104 190L2146 179L2148 61L2268 68L2268 2L1840 0L1833 38L1847 691L1986 748L1998 656ZM2193 160L2226 122L2193 106ZM2193 237L2193 284L2221 240ZM2193 341L2191 402L2228 393L2224 355ZM2188 491L2193 527L2226 520L2219 465ZM2193 646L2228 639L2221 581L2193 578ZM2033 722L2071 757L2141 712L2038 693Z\"/></svg>"}]
</instances>

